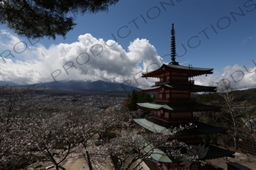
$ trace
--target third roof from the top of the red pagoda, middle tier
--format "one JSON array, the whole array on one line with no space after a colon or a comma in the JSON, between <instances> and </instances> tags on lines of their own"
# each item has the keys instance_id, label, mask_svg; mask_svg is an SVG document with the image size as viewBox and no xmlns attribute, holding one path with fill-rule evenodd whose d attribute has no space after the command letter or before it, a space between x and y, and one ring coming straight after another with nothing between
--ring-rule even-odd
<instances>
[{"instance_id":1,"label":"third roof from the top of the red pagoda, middle tier","mask_svg":"<svg viewBox=\"0 0 256 170\"><path fill-rule=\"evenodd\" d=\"M172 110L172 111L220 111L221 107L199 104L194 101L189 102L166 102L153 101L150 103L137 103L139 107L150 110Z\"/></svg>"}]
</instances>

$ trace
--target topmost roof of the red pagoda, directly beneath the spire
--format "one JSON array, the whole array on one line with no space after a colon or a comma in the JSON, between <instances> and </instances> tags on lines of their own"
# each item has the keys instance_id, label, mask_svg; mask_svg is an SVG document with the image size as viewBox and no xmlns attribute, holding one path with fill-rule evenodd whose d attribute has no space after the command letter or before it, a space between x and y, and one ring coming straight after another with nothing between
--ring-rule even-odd
<instances>
[{"instance_id":1,"label":"topmost roof of the red pagoda, directly beneath the spire","mask_svg":"<svg viewBox=\"0 0 256 170\"><path fill-rule=\"evenodd\" d=\"M151 72L142 73L142 77L159 77L160 74L169 73L171 71L177 73L189 73L189 76L200 76L203 74L212 74L213 68L200 68L193 66L181 66L175 64L163 64L159 69L153 70Z\"/></svg>"}]
</instances>

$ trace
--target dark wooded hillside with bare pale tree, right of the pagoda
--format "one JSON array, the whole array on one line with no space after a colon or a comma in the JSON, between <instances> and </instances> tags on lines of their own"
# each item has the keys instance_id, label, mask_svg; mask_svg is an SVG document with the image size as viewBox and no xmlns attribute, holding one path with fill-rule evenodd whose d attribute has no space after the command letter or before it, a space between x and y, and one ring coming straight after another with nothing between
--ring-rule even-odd
<instances>
[{"instance_id":1,"label":"dark wooded hillside with bare pale tree, right of the pagoda","mask_svg":"<svg viewBox=\"0 0 256 170\"><path fill-rule=\"evenodd\" d=\"M196 113L201 122L222 126L228 134L207 135L204 140L215 144L242 150L242 144L249 146L246 152L256 148L256 88L234 91L218 91L216 94L201 94L195 97L202 104L221 106L219 113Z\"/></svg>"}]
</instances>

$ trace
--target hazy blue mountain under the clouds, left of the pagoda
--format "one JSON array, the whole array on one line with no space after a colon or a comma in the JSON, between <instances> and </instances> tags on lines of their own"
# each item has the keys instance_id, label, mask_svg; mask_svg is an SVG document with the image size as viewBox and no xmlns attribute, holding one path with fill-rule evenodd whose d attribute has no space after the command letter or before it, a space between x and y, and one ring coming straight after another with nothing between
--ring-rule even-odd
<instances>
[{"instance_id":1,"label":"hazy blue mountain under the clouds, left of the pagoda","mask_svg":"<svg viewBox=\"0 0 256 170\"><path fill-rule=\"evenodd\" d=\"M52 91L58 93L62 92L96 92L96 93L131 93L131 91L136 90L139 91L140 88L135 88L133 86L127 86L118 82L104 82L101 80L91 82L91 81L58 81L58 82L42 82L36 83L34 85L17 85L11 82L2 82L0 81L0 85L14 85L16 87L32 87L35 91Z\"/></svg>"}]
</instances>

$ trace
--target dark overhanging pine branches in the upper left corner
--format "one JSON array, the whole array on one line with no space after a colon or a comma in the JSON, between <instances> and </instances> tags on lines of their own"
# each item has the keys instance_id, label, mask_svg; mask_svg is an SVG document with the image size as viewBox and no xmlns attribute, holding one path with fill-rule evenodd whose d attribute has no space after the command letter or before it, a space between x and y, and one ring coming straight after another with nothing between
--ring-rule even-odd
<instances>
[{"instance_id":1,"label":"dark overhanging pine branches in the upper left corner","mask_svg":"<svg viewBox=\"0 0 256 170\"><path fill-rule=\"evenodd\" d=\"M119 0L9 0L0 1L0 23L20 36L36 39L63 36L74 28L75 15L107 11Z\"/></svg>"}]
</instances>

